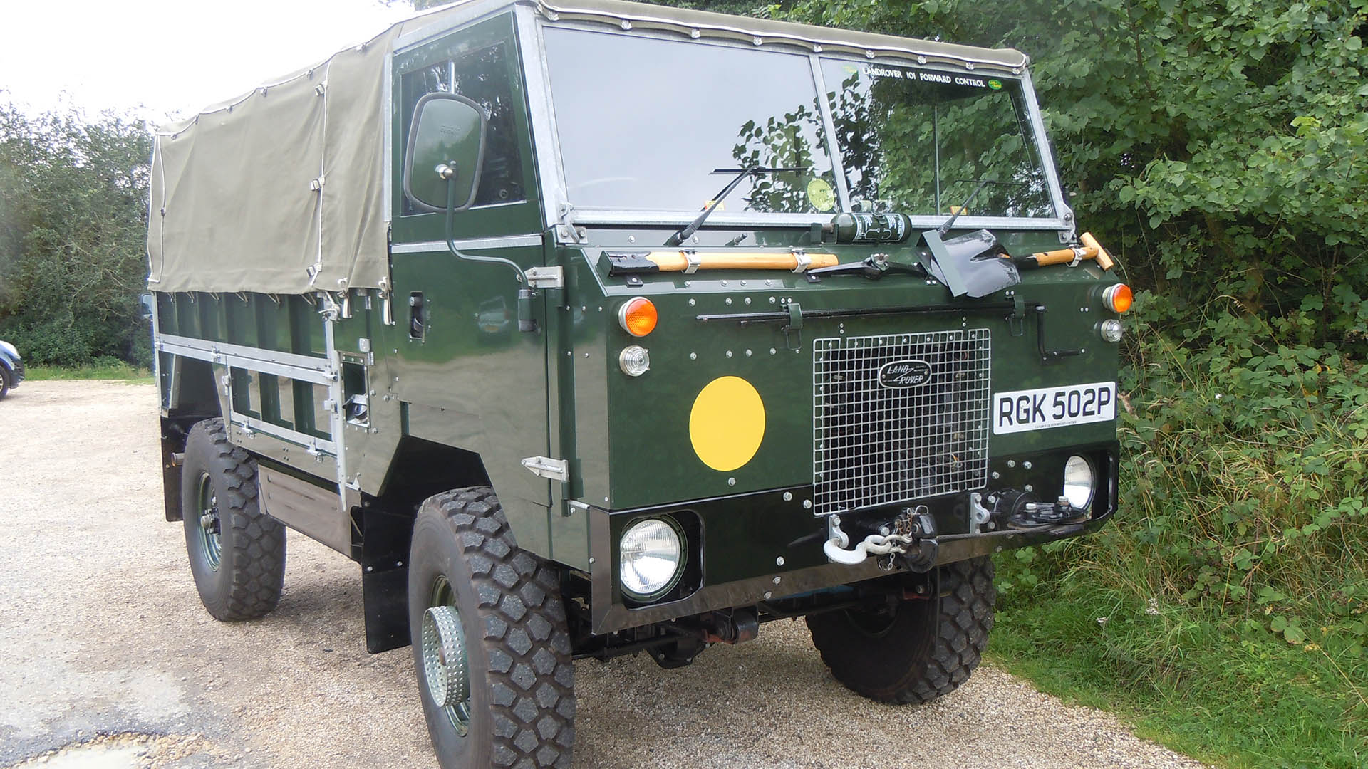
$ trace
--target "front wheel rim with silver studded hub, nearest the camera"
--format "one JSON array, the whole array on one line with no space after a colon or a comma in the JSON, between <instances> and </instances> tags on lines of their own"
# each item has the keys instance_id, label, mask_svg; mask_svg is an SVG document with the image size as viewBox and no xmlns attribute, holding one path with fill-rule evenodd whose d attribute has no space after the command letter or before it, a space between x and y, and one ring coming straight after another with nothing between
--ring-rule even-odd
<instances>
[{"instance_id":1,"label":"front wheel rim with silver studded hub, nearest the camera","mask_svg":"<svg viewBox=\"0 0 1368 769\"><path fill-rule=\"evenodd\" d=\"M456 591L445 576L438 576L428 609L423 613L423 686L460 736L471 728L469 670L465 625L456 608Z\"/></svg>"}]
</instances>

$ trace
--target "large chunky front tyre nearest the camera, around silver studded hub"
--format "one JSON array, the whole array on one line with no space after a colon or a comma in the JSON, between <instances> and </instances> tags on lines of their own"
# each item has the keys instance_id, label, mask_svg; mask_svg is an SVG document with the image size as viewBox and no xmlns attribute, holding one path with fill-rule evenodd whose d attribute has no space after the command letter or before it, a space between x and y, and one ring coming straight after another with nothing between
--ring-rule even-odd
<instances>
[{"instance_id":1,"label":"large chunky front tyre nearest the camera, around silver studded hub","mask_svg":"<svg viewBox=\"0 0 1368 769\"><path fill-rule=\"evenodd\" d=\"M464 662L434 642L458 625ZM432 614L436 616L436 614ZM443 769L569 768L575 743L575 668L561 603L560 572L520 550L491 488L458 488L428 498L409 551L409 628L428 733ZM432 653L442 649L440 657ZM430 677L436 660L461 662L462 687ZM436 688L436 694L434 694ZM447 705L435 698L442 690ZM454 701L454 703L451 703Z\"/></svg>"}]
</instances>

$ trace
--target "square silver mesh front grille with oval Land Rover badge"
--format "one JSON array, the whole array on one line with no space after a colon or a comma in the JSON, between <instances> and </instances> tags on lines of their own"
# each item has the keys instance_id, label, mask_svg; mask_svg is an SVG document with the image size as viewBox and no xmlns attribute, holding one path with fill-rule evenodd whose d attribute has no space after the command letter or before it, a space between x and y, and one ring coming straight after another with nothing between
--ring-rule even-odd
<instances>
[{"instance_id":1,"label":"square silver mesh front grille with oval Land Rover badge","mask_svg":"<svg viewBox=\"0 0 1368 769\"><path fill-rule=\"evenodd\" d=\"M817 339L813 512L986 484L990 352L986 328Z\"/></svg>"}]
</instances>

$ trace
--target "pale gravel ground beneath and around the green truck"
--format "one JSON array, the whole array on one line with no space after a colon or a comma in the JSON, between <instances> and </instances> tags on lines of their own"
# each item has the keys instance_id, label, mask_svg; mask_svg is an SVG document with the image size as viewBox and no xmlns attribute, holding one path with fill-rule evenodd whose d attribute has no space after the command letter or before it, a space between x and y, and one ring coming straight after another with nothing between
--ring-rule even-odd
<instances>
[{"instance_id":1,"label":"pale gravel ground beneath and around the green truck","mask_svg":"<svg viewBox=\"0 0 1368 769\"><path fill-rule=\"evenodd\" d=\"M200 606L161 514L153 387L16 389L0 501L0 766L436 765L409 650L365 653L353 562L291 535L274 614ZM681 670L575 670L580 768L1198 766L993 668L928 706L865 701L802 623Z\"/></svg>"}]
</instances>

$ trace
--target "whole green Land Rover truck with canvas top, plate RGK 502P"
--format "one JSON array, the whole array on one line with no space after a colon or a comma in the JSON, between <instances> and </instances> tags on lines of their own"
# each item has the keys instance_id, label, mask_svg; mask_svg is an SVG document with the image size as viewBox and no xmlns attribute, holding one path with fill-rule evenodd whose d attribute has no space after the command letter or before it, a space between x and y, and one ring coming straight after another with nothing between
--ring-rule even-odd
<instances>
[{"instance_id":1,"label":"whole green Land Rover truck with canvas top, plate RGK 502P","mask_svg":"<svg viewBox=\"0 0 1368 769\"><path fill-rule=\"evenodd\" d=\"M361 566L443 766L568 766L572 661L806 617L962 684L990 556L1118 504L1119 315L1027 57L468 0L157 131L166 516L220 620Z\"/></svg>"}]
</instances>

